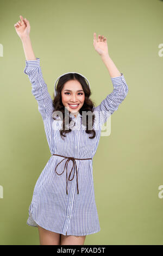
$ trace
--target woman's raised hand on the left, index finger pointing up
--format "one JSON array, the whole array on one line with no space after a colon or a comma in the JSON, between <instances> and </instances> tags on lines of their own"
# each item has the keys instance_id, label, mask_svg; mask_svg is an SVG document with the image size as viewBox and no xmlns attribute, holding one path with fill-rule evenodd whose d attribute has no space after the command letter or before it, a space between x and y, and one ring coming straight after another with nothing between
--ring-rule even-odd
<instances>
[{"instance_id":1,"label":"woman's raised hand on the left, index finger pointing up","mask_svg":"<svg viewBox=\"0 0 163 256\"><path fill-rule=\"evenodd\" d=\"M25 18L23 19L23 16L20 15L20 19L17 23L14 24L16 33L18 36L22 39L24 37L29 36L30 33L30 24L29 21Z\"/></svg>"}]
</instances>

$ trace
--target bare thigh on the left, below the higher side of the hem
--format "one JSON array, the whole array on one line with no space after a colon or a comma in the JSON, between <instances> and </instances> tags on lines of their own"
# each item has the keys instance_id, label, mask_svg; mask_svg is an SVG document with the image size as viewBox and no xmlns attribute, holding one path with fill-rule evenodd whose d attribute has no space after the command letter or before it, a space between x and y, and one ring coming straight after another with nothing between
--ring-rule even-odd
<instances>
[{"instance_id":1,"label":"bare thigh on the left, below the higher side of the hem","mask_svg":"<svg viewBox=\"0 0 163 256\"><path fill-rule=\"evenodd\" d=\"M40 245L60 245L60 235L38 225Z\"/></svg>"}]
</instances>

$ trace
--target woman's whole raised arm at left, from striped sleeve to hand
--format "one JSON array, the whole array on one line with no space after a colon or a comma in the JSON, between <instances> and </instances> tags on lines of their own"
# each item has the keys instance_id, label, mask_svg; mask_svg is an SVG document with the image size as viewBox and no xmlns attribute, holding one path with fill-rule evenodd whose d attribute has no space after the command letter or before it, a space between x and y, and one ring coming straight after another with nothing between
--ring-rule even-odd
<instances>
[{"instance_id":1,"label":"woman's whole raised arm at left, from striped sleeve to hand","mask_svg":"<svg viewBox=\"0 0 163 256\"><path fill-rule=\"evenodd\" d=\"M39 112L43 120L52 117L54 107L51 95L48 93L47 84L43 80L40 59L35 58L33 48L30 42L30 24L29 21L20 15L21 21L18 21L14 26L18 36L22 40L24 53L26 56L26 67L24 73L28 75L32 84L32 94L35 96L39 106Z\"/></svg>"}]
</instances>

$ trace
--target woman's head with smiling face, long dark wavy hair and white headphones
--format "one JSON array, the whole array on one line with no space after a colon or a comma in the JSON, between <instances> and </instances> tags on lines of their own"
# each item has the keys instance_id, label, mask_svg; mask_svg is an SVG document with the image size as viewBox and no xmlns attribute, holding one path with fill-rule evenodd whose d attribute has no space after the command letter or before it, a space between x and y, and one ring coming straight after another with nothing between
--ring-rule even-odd
<instances>
[{"instance_id":1,"label":"woman's head with smiling face, long dark wavy hair and white headphones","mask_svg":"<svg viewBox=\"0 0 163 256\"><path fill-rule=\"evenodd\" d=\"M78 73L66 73L59 78L57 84L56 94L53 100L53 107L55 112L60 111L62 113L62 121L63 126L60 130L61 137L65 137L65 134L71 132L71 128L69 130L65 130L65 108L69 115L68 125L72 120L72 116L83 117L83 112L91 112L92 118L83 119L83 125L85 127L85 132L91 135L89 138L95 138L96 131L93 129L95 124L95 114L93 114L93 108L95 108L95 103L90 99L91 91L90 84L88 85L84 76ZM53 117L56 120L55 117ZM92 122L92 123L91 123Z\"/></svg>"}]
</instances>

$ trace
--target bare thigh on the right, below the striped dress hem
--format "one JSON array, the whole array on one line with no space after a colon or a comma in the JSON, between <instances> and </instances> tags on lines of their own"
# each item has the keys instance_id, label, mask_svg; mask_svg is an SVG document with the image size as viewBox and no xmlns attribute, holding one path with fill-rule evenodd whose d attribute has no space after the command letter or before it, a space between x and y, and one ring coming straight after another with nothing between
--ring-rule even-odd
<instances>
[{"instance_id":1,"label":"bare thigh on the right, below the striped dress hem","mask_svg":"<svg viewBox=\"0 0 163 256\"><path fill-rule=\"evenodd\" d=\"M84 245L85 237L61 234L61 245Z\"/></svg>"}]
</instances>

